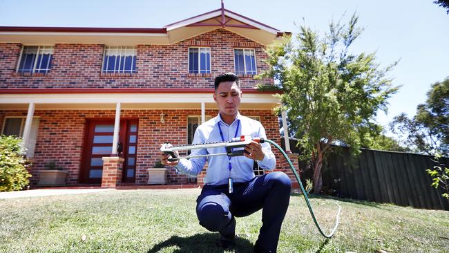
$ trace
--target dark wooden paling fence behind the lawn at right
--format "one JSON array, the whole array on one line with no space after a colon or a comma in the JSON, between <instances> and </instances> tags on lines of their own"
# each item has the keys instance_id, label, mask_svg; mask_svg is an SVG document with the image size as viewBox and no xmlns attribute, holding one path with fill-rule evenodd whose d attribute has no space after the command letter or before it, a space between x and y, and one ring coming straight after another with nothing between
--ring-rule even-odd
<instances>
[{"instance_id":1,"label":"dark wooden paling fence behind the lawn at right","mask_svg":"<svg viewBox=\"0 0 449 253\"><path fill-rule=\"evenodd\" d=\"M298 153L294 140L290 140L290 147ZM449 210L449 200L441 196L442 191L430 186L432 178L426 169L437 165L432 156L361 149L361 155L351 165L348 148L333 149L323 165L324 192L376 203ZM447 167L449 158L439 162ZM306 169L305 162L300 162L300 169L301 180L312 178L312 169Z\"/></svg>"}]
</instances>

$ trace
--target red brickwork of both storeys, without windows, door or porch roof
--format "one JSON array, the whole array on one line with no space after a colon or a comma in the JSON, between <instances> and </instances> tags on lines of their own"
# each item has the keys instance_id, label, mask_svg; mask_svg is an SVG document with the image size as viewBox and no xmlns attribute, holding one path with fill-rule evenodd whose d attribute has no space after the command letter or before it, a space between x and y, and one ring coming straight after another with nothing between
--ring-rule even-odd
<instances>
[{"instance_id":1,"label":"red brickwork of both storeys, without windows, door or porch roof","mask_svg":"<svg viewBox=\"0 0 449 253\"><path fill-rule=\"evenodd\" d=\"M211 48L211 73L189 74L189 46L207 46ZM213 88L213 77L220 73L234 72L234 48L254 48L257 71L267 69L264 60L267 55L265 46L250 39L217 29L202 35L180 41L172 45L137 45L136 71L133 74L104 74L101 72L104 45L102 44L56 44L52 56L50 72L24 76L15 73L19 62L21 44L0 43L0 88ZM258 83L274 84L273 79L256 80L252 76L241 77L242 88L254 88ZM160 156L160 143L187 143L187 115L201 115L201 110L164 110L165 123L160 122L162 110L122 110L122 119L137 119L138 140L135 171L135 185L146 185L146 169L153 167ZM206 115L215 117L217 110L206 110ZM242 110L242 115L260 116L267 137L280 143L278 117L271 110ZM6 116L26 117L26 111L0 110L0 124ZM68 185L79 184L80 168L86 125L89 119L113 120L112 110L41 110L37 109L34 117L39 117L39 129L35 156L32 159L32 185L39 181L39 171L51 160L68 171ZM1 126L0 126L1 127ZM287 163L278 158L277 168L289 172ZM108 169L116 166L104 163L105 183L108 187L120 184L117 171L108 176ZM297 165L297 160L296 160ZM121 172L121 171L120 171ZM205 169L198 177L202 185ZM118 176L120 177L120 176ZM167 183L182 185L187 183L187 176L178 175L173 167L168 167Z\"/></svg>"}]
</instances>

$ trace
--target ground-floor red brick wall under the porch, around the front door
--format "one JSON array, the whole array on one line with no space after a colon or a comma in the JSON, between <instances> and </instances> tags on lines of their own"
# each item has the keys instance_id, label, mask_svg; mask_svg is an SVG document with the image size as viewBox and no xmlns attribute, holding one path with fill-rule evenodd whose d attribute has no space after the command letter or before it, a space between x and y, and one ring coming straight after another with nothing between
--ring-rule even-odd
<instances>
[{"instance_id":1,"label":"ground-floor red brick wall under the porch, around the front door","mask_svg":"<svg viewBox=\"0 0 449 253\"><path fill-rule=\"evenodd\" d=\"M164 110L165 123L160 122L161 110L123 110L121 118L138 118L139 130L137 140L137 168L136 180L138 185L145 185L148 180L146 169L152 167L160 156L160 144L186 144L187 142L187 115L201 115L200 110ZM215 117L218 111L207 110L206 115ZM267 137L280 143L278 117L271 111L242 110L242 115L260 116L260 121L267 131ZM26 116L26 111L0 111L0 124L5 116ZM57 165L68 170L67 182L69 185L77 184L80 163L82 160L83 141L86 134L86 119L113 119L115 111L91 110L56 110L35 111L39 117L39 131L33 158L32 178L33 184L39 180L39 170L50 160L56 160ZM278 158L278 165L282 166L282 159L278 151L274 152ZM278 166L279 168L279 166ZM198 179L202 183L202 176ZM168 171L169 184L186 183L184 175L178 175L173 167Z\"/></svg>"}]
</instances>

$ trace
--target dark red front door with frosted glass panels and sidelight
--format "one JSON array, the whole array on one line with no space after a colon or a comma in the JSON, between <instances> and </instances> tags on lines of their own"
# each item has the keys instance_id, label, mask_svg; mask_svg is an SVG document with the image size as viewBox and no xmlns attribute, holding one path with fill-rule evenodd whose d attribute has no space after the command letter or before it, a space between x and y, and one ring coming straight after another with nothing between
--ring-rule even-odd
<instances>
[{"instance_id":1,"label":"dark red front door with frosted glass panels and sidelight","mask_svg":"<svg viewBox=\"0 0 449 253\"><path fill-rule=\"evenodd\" d=\"M104 156L111 156L114 120L88 120L80 182L101 183ZM119 156L124 158L122 182L135 181L137 120L120 120Z\"/></svg>"}]
</instances>

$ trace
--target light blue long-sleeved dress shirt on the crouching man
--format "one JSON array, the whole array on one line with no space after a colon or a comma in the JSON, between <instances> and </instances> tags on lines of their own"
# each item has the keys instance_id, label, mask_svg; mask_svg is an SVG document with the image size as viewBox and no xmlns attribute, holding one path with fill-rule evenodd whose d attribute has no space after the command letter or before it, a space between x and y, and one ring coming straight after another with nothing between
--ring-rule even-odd
<instances>
[{"instance_id":1,"label":"light blue long-sleeved dress shirt on the crouching man","mask_svg":"<svg viewBox=\"0 0 449 253\"><path fill-rule=\"evenodd\" d=\"M240 121L240 124L238 124L238 121ZM265 129L257 120L247 118L238 113L236 120L234 120L231 125L228 125L222 121L220 113L218 113L217 117L204 122L204 124L201 124L196 129L192 144L222 142L218 124L220 124L225 141L234 138L238 125L240 126L237 130L237 137L249 135L251 138L267 138ZM258 165L263 169L272 170L276 167L274 153L271 151L271 147L267 142L261 145L265 156L263 160L258 161ZM225 147L192 149L191 156L225 152ZM233 156L230 160L228 156L180 159L175 168L180 174L197 176L202 171L206 161L209 162L209 165L207 167L206 176L204 177L204 184L225 185L227 184L228 178L232 178L233 182L247 182L254 178L254 160L246 158L245 156ZM231 171L228 169L229 162L231 162L232 166Z\"/></svg>"}]
</instances>

